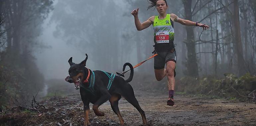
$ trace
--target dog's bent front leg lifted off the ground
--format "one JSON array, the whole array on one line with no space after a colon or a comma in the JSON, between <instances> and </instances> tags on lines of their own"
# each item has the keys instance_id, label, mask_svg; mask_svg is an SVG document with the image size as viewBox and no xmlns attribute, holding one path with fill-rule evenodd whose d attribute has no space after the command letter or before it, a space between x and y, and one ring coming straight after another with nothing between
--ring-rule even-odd
<instances>
[{"instance_id":1,"label":"dog's bent front leg lifted off the ground","mask_svg":"<svg viewBox=\"0 0 256 126\"><path fill-rule=\"evenodd\" d=\"M99 106L110 99L111 95L107 90L101 90L101 97L93 104L92 110L97 116L104 116L104 112L99 111Z\"/></svg>"}]
</instances>

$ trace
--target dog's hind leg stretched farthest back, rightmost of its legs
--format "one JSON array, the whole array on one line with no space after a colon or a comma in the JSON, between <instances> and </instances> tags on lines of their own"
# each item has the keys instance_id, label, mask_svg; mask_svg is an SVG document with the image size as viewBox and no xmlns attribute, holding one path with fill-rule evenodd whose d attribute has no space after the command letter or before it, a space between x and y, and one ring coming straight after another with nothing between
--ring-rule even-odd
<instances>
[{"instance_id":1,"label":"dog's hind leg stretched farthest back, rightmost of its legs","mask_svg":"<svg viewBox=\"0 0 256 126\"><path fill-rule=\"evenodd\" d=\"M145 112L141 109L139 102L137 101L136 97L134 96L134 91L130 84L128 84L128 86L126 86L124 92L122 93L122 96L140 112L143 124L147 125L147 119L146 119Z\"/></svg>"}]
</instances>

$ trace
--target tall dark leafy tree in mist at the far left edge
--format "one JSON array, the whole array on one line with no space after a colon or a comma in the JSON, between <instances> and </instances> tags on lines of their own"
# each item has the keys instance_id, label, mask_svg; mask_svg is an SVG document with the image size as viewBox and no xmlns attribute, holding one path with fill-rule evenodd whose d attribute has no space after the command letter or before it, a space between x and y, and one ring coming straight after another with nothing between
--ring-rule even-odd
<instances>
[{"instance_id":1,"label":"tall dark leafy tree in mist at the far left edge","mask_svg":"<svg viewBox=\"0 0 256 126\"><path fill-rule=\"evenodd\" d=\"M6 78L15 78L8 83L15 87L14 94L18 96L34 95L43 89L44 77L31 52L39 44L37 37L42 31L44 19L53 9L52 3L51 0L8 0L1 4L6 11L7 29L7 47L1 52L1 62L6 69L13 71L12 77Z\"/></svg>"}]
</instances>

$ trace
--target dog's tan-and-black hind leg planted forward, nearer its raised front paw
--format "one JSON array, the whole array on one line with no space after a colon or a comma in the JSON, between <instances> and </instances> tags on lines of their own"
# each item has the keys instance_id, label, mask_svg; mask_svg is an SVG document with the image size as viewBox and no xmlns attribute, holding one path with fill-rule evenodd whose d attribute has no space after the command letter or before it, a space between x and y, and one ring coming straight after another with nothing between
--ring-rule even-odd
<instances>
[{"instance_id":1,"label":"dog's tan-and-black hind leg planted forward, nearer its raised front paw","mask_svg":"<svg viewBox=\"0 0 256 126\"><path fill-rule=\"evenodd\" d=\"M120 100L121 95L119 94L113 94L111 98L109 99L110 105L113 109L113 111L117 114L119 120L120 120L120 125L124 125L124 119L122 118L119 108L118 108L118 101Z\"/></svg>"}]
</instances>

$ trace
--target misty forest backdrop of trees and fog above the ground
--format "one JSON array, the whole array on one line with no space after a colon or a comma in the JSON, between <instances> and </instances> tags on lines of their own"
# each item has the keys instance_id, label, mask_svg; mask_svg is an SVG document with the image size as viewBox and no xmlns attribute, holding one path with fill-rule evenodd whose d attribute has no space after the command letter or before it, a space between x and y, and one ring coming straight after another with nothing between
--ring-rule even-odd
<instances>
[{"instance_id":1,"label":"misty forest backdrop of trees and fog above the ground","mask_svg":"<svg viewBox=\"0 0 256 126\"><path fill-rule=\"evenodd\" d=\"M176 79L255 75L255 4L168 0L168 14L210 27L203 31L174 22ZM153 26L138 31L131 11L139 8L142 23L158 15L148 5L147 0L0 1L0 90L30 97L46 85L66 86L70 57L80 63L88 54L87 68L110 73L121 73L126 62L134 66L147 59L154 50ZM135 68L134 77L158 83L154 59Z\"/></svg>"}]
</instances>

